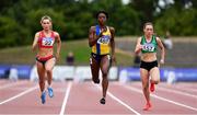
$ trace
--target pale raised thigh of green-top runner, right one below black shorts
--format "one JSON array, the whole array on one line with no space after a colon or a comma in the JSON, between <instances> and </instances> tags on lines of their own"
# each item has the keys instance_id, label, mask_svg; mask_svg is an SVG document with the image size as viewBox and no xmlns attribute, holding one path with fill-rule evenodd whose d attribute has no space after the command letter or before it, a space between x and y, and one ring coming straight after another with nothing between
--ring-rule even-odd
<instances>
[{"instance_id":1,"label":"pale raised thigh of green-top runner, right one below black shorts","mask_svg":"<svg viewBox=\"0 0 197 115\"><path fill-rule=\"evenodd\" d=\"M160 70L158 67L154 67L150 70L150 77L153 81L160 81Z\"/></svg>"}]
</instances>

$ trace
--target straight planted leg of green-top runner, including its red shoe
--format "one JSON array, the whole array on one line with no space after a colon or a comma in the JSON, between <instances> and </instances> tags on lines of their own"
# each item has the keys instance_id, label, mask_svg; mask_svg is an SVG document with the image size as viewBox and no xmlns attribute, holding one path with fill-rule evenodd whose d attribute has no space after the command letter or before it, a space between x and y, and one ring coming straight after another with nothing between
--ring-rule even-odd
<instances>
[{"instance_id":1,"label":"straight planted leg of green-top runner, including its red shoe","mask_svg":"<svg viewBox=\"0 0 197 115\"><path fill-rule=\"evenodd\" d=\"M151 106L150 92L149 92L149 71L143 68L140 68L140 76L141 76L143 95L147 101L146 107L143 110L147 111Z\"/></svg>"}]
</instances>

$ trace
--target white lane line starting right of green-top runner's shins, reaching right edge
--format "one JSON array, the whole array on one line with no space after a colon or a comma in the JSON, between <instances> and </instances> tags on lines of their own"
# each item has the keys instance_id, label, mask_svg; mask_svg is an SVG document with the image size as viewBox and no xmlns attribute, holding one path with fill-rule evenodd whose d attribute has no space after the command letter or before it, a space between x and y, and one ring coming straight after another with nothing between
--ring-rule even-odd
<instances>
[{"instance_id":1,"label":"white lane line starting right of green-top runner's shins, reaching right edge","mask_svg":"<svg viewBox=\"0 0 197 115\"><path fill-rule=\"evenodd\" d=\"M189 97L196 97L197 99L197 95L189 94L189 93L186 93L186 92L176 91L176 90L166 89L166 88L161 88L161 87L158 87L158 89L166 91L166 92L176 93L176 94L186 95L186 96L189 96Z\"/></svg>"}]
</instances>

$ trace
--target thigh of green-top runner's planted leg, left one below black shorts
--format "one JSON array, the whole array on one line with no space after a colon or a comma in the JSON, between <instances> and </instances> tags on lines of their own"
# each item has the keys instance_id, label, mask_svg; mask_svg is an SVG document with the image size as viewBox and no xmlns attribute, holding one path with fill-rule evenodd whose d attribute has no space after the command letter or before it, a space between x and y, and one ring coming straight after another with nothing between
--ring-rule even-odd
<instances>
[{"instance_id":1,"label":"thigh of green-top runner's planted leg, left one below black shorts","mask_svg":"<svg viewBox=\"0 0 197 115\"><path fill-rule=\"evenodd\" d=\"M149 71L147 69L140 68L140 77L143 85L149 83Z\"/></svg>"}]
</instances>

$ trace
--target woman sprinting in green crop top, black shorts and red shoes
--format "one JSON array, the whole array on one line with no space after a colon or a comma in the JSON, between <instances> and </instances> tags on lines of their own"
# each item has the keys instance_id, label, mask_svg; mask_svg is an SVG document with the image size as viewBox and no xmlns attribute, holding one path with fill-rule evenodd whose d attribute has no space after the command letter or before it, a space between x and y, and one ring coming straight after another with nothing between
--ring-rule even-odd
<instances>
[{"instance_id":1,"label":"woman sprinting in green crop top, black shorts and red shoes","mask_svg":"<svg viewBox=\"0 0 197 115\"><path fill-rule=\"evenodd\" d=\"M160 82L160 70L157 60L157 48L161 49L161 64L164 64L164 47L161 39L153 34L153 24L148 22L143 25L144 35L137 41L135 53L141 51L140 76L142 81L142 90L146 97L146 106L143 111L148 111L151 107L150 91L154 91L154 84ZM151 79L149 78L151 77Z\"/></svg>"}]
</instances>

